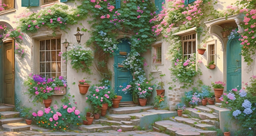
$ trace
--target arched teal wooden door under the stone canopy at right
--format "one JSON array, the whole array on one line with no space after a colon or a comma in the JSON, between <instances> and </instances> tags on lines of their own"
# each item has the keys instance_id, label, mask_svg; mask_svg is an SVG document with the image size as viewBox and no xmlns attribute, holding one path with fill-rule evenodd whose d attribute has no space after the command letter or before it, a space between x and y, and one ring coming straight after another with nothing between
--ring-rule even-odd
<instances>
[{"instance_id":1,"label":"arched teal wooden door under the stone canopy at right","mask_svg":"<svg viewBox=\"0 0 256 136\"><path fill-rule=\"evenodd\" d=\"M238 38L227 43L227 90L241 86L241 46Z\"/></svg>"}]
</instances>

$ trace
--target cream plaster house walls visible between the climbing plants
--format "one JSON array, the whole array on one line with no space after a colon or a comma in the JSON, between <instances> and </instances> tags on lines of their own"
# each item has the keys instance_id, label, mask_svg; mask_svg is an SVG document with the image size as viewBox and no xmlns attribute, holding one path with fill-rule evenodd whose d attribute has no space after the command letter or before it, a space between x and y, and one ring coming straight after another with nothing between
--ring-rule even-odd
<instances>
[{"instance_id":1,"label":"cream plaster house walls visible between the climbing plants","mask_svg":"<svg viewBox=\"0 0 256 136\"><path fill-rule=\"evenodd\" d=\"M41 2L41 0L40 0ZM154 2L154 1L153 1ZM232 1L225 1L225 0L220 0L218 1L218 4L215 5L215 9L221 11L226 9L227 5L232 4ZM40 3L41 6L42 3ZM57 2L56 4L67 4L71 7L74 6L73 3L66 2L66 3L60 3ZM165 7L167 7L168 2L165 3ZM31 7L30 10L40 10L41 7ZM9 28L13 29L17 27L17 24L13 24L13 19L14 16L19 15L22 13L26 7L21 7L21 1L15 1L15 12L10 12L6 13L3 15L0 15L0 24L6 24ZM209 33L211 37L207 40L207 44L215 44L215 63L216 63L216 68L214 70L207 69L205 65L209 63L209 51L208 51L208 46L206 46L207 50L204 53L204 55L200 55L196 51L196 58L202 60L202 63L198 63L197 68L199 68L202 71L202 75L198 75L195 77L195 81L198 79L201 79L205 85L211 86L211 82L215 81L227 81L227 61L226 61L226 49L227 49L227 38L222 38L221 36L221 31L222 31L222 25L223 23L227 23L226 25L237 25L239 22L241 22L241 17L242 15L233 15L226 20L225 18L219 18L211 21L205 22L205 24L210 27ZM61 43L67 39L67 41L71 44L77 45L76 38L74 34L76 34L76 28L77 27L82 27L79 25L79 23L82 23L85 29L90 30L90 25L87 23L88 20L91 18L88 18L86 20L79 21L78 24L76 25L68 25L70 30L67 30L67 33L58 30L57 31L57 36L61 38ZM19 99L22 101L22 105L25 104L26 106L33 106L33 103L31 103L31 99L29 99L28 95L24 95L24 93L27 91L27 88L24 87L23 82L26 79L26 77L33 72L34 74L39 74L39 64L38 64L38 48L39 44L38 41L40 39L47 39L47 38L53 38L52 37L52 30L49 30L48 28L40 28L38 32L34 34L25 34L24 38L24 45L26 48L26 56L23 61L20 61L17 57L15 58L15 93ZM183 34L189 34L189 33L195 33L195 29L190 29L184 32L179 32L177 35L183 35ZM81 33L81 32L80 32ZM86 43L86 41L89 39L90 34L88 32L82 32L84 35L81 38L81 44L83 45ZM122 36L120 36L121 38ZM196 40L196 50L197 50L197 45L201 44L201 41L204 37L200 37L200 40ZM155 53L155 46L162 45L162 62L161 64L153 64L153 59L152 56ZM165 74L166 76L163 77L164 81L164 88L165 88L165 96L167 96L168 101L166 102L166 105L169 106L170 110L174 110L174 107L176 104L179 103L180 98L184 95L185 91L189 91L189 89L182 89L180 88L182 86L181 83L176 82L169 84L170 82L173 82L172 79L174 76L171 74L169 67L171 66L170 61L165 59L167 56L167 51L168 48L171 44L167 43L164 40L159 40L155 43L153 43L152 49L148 50L144 56L146 59L147 64L149 67L144 67L144 70L146 72L147 78L149 78L149 74L152 74L155 79L152 81L152 83L157 84L161 79L159 79L159 73ZM91 47L91 49L93 49ZM2 49L0 48L0 51L2 52ZM61 51L65 51L65 47L61 44ZM2 54L1 54L2 55ZM256 68L254 68L254 65L256 64L255 62L255 56L253 56L254 62L252 65L248 66L246 62L243 61L242 57L242 82L246 83L249 81L249 77L251 77L256 73ZM2 67L2 60L0 61L1 64L0 66ZM114 87L114 57L111 57L108 61L108 68L113 71L113 76L112 76L112 87ZM72 66L70 65L70 62L67 63L67 65L64 62L61 62L61 75L62 76L67 76L67 82L68 82L68 87L70 89L67 90L67 93L70 93L70 95L74 95L74 99L77 101L77 107L80 111L83 111L84 107L88 106L88 103L86 103L85 97L89 94L89 92L85 95L79 93L78 89L78 80L81 80L85 77L90 77L89 80L92 81L91 85L99 83L99 80L102 79L102 77L98 74L97 70L94 67L91 67L93 75L88 75L87 73L82 73L81 71L76 72L76 70L72 69ZM0 75L1 76L1 75ZM2 76L1 76L2 77ZM1 79L0 79L1 81ZM76 82L75 85L72 83ZM172 90L169 90L169 86L174 86ZM243 86L244 84L242 84ZM2 86L2 82L0 83L0 86ZM225 88L226 89L226 88ZM1 89L2 90L2 89ZM213 91L213 90L212 90ZM0 91L2 94L3 92ZM1 94L1 96L2 96ZM156 96L156 91L153 91L153 96L150 99L150 103L153 102L153 98ZM63 98L63 96L51 96L53 99L53 102L51 106L54 105L54 101L56 100L58 103L60 102L60 99ZM0 101L2 103L3 101ZM34 107L35 109L40 109L41 107L44 107L43 103L37 103L38 105Z\"/></svg>"}]
</instances>

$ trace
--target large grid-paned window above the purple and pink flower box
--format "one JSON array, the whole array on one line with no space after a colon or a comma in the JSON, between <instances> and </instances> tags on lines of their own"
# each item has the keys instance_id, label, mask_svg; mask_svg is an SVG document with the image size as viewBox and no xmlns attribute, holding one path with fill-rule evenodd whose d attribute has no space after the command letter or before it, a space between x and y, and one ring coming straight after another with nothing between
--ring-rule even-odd
<instances>
[{"instance_id":1,"label":"large grid-paned window above the purple and pink flower box","mask_svg":"<svg viewBox=\"0 0 256 136\"><path fill-rule=\"evenodd\" d=\"M40 75L48 77L60 76L61 59L58 56L60 52L60 45L60 38L39 41Z\"/></svg>"}]
</instances>

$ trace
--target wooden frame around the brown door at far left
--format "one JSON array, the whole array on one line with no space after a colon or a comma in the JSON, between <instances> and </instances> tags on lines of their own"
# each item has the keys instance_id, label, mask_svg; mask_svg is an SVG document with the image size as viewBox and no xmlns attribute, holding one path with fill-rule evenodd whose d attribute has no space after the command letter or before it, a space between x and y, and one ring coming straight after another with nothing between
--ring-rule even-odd
<instances>
[{"instance_id":1,"label":"wooden frame around the brown door at far left","mask_svg":"<svg viewBox=\"0 0 256 136\"><path fill-rule=\"evenodd\" d=\"M15 54L14 54L14 39L13 38L5 38L5 39L2 39L2 41L3 41L3 51L2 51L2 54L3 54L3 57L2 57L2 63L3 63L3 66L4 66L4 58L5 58L5 53L4 53L4 44L5 43L12 43L12 48L13 48L13 51L12 51L12 57L13 57L13 86L12 86L12 90L13 90L13 98L12 98L12 100L13 100L13 104L15 104L15 101L14 101L14 97L15 97L15 91L14 91L14 86L15 86ZM2 76L2 79L3 79L3 87L2 87L2 90L3 90L3 98L5 97L5 89L4 89L4 69L2 70L2 72L3 72L3 76ZM5 98L3 99L3 103L4 103L4 105L6 105L6 106L14 106L14 105L11 105L11 104L6 104L5 103Z\"/></svg>"}]
</instances>

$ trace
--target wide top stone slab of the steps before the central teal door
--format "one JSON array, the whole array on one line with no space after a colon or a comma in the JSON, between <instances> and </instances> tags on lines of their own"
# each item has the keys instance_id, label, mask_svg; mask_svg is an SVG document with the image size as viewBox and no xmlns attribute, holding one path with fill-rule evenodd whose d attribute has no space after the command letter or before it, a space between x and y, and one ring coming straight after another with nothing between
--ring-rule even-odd
<instances>
[{"instance_id":1,"label":"wide top stone slab of the steps before the central teal door","mask_svg":"<svg viewBox=\"0 0 256 136\"><path fill-rule=\"evenodd\" d=\"M153 108L153 106L145 106L145 107L135 106L135 107L130 107L130 108L126 108L126 107L111 108L111 109L109 109L109 113L111 113L111 114L130 114L130 113L143 112L143 111L149 110L151 108Z\"/></svg>"}]
</instances>

